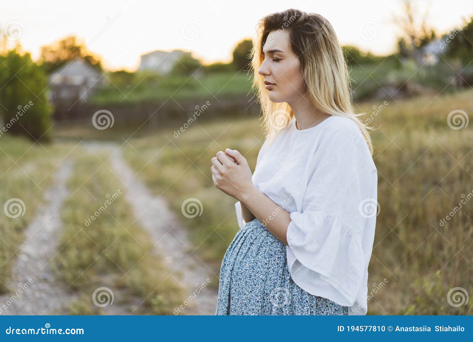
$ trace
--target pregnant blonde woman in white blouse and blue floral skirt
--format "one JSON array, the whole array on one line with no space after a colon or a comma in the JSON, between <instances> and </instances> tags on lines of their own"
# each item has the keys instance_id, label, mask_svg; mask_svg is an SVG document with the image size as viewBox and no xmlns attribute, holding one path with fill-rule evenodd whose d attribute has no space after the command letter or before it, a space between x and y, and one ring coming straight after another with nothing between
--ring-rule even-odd
<instances>
[{"instance_id":1,"label":"pregnant blonde woman in white blouse and blue floral skirt","mask_svg":"<svg viewBox=\"0 0 473 342\"><path fill-rule=\"evenodd\" d=\"M366 315L377 169L350 101L332 25L295 9L260 21L252 52L266 140L254 173L211 159L240 230L220 268L217 315Z\"/></svg>"}]
</instances>

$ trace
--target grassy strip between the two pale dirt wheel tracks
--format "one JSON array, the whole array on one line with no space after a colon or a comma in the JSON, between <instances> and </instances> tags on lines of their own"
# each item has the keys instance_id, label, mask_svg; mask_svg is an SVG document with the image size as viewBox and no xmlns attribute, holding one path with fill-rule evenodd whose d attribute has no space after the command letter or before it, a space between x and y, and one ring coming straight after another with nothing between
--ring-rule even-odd
<instances>
[{"instance_id":1,"label":"grassy strip between the two pale dirt wheel tracks","mask_svg":"<svg viewBox=\"0 0 473 342\"><path fill-rule=\"evenodd\" d=\"M102 165L107 158L109 154L83 153L76 161L68 184L70 198L62 208L59 254L53 260L57 278L85 297L106 286L121 290L118 300L144 300L134 314L172 314L183 302L182 287L169 277L163 255L152 251L148 233L125 201L123 183ZM93 307L82 306L80 298L71 305L72 314L87 314ZM128 304L129 313L137 307L131 300L120 304Z\"/></svg>"}]
</instances>

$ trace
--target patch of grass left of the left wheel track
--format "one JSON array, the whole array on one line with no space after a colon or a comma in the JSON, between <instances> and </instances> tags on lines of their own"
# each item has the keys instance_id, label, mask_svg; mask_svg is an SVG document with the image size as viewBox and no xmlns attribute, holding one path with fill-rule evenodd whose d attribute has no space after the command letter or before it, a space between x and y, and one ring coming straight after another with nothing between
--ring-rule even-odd
<instances>
[{"instance_id":1,"label":"patch of grass left of the left wheel track","mask_svg":"<svg viewBox=\"0 0 473 342\"><path fill-rule=\"evenodd\" d=\"M4 203L11 200L7 212L14 218L0 215L0 293L8 289L5 282L17 261L16 252L28 238L23 229L43 202L43 190L51 185L56 166L76 145L33 144L30 140L7 135L0 138L0 203L4 210Z\"/></svg>"}]
</instances>

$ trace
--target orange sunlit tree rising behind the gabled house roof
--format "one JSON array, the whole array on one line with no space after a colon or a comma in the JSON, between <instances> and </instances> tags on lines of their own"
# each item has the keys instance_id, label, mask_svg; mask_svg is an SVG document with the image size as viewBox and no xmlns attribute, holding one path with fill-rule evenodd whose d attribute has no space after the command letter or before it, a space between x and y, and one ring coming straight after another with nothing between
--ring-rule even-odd
<instances>
[{"instance_id":1,"label":"orange sunlit tree rising behind the gabled house roof","mask_svg":"<svg viewBox=\"0 0 473 342\"><path fill-rule=\"evenodd\" d=\"M49 74L52 71L61 68L67 62L73 61L76 57L83 57L91 66L102 71L100 59L90 51L82 41L78 41L75 36L68 36L51 45L41 47L41 58L45 61L43 67Z\"/></svg>"}]
</instances>

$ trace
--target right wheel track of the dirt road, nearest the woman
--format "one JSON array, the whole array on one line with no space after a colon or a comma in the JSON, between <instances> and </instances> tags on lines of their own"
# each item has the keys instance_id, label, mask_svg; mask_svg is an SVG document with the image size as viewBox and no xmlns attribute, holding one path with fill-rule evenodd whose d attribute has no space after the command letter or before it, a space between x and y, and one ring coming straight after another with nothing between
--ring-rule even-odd
<instances>
[{"instance_id":1,"label":"right wheel track of the dirt road, nearest the woman","mask_svg":"<svg viewBox=\"0 0 473 342\"><path fill-rule=\"evenodd\" d=\"M115 174L126 184L125 196L131 204L140 224L148 230L155 242L158 254L165 255L164 261L172 276L185 289L188 305L181 309L184 315L215 315L217 291L206 281L213 272L193 253L194 248L187 238L185 228L174 212L169 210L163 197L154 196L124 161L118 145L100 141L89 141L93 150L107 149L114 153L110 158ZM116 151L116 152L115 152ZM157 175L158 176L158 175Z\"/></svg>"}]
</instances>

